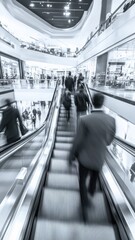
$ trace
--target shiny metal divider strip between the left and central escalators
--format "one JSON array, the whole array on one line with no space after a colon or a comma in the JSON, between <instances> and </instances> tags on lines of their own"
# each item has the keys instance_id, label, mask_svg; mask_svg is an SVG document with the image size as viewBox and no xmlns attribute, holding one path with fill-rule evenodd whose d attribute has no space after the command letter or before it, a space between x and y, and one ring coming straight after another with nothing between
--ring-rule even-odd
<instances>
[{"instance_id":1,"label":"shiny metal divider strip between the left and central escalators","mask_svg":"<svg viewBox=\"0 0 135 240\"><path fill-rule=\"evenodd\" d=\"M59 95L58 95L58 97L59 97ZM0 205L0 213L1 213L0 214L0 218L1 218L1 221L0 221L0 239L3 239L3 235L5 234L5 231L8 227L8 225L10 224L10 221L11 221L12 216L13 216L15 210L16 210L16 207L18 205L20 197L22 196L23 191L25 191L26 184L29 182L30 178L33 176L34 170L36 171L36 167L38 165L39 165L39 168L41 168L42 165L43 165L42 161L41 161L41 163L39 163L39 160L40 160L42 154L45 154L45 151L43 151L43 148L44 148L44 145L46 144L48 136L50 134L51 123L53 121L53 116L54 116L55 110L58 108L58 106L56 104L57 104L57 102L53 101L53 104L51 105L51 109L53 111L52 120L50 121L50 118L48 117L48 120L47 120L48 124L46 124L47 134L45 136L44 144L42 146L42 151L40 150L37 153L37 156L35 157L36 159L35 159L34 163L31 164L32 169L29 173L29 176L27 176L27 179L24 179L24 182L22 182L22 184L20 184L20 180L16 179L16 181L14 182L13 186L11 187L9 193L7 194L6 198L4 198L4 201ZM56 106L57 106L57 108L56 108ZM57 109L57 111L58 111L58 109ZM50 111L50 114L51 114L51 111ZM17 192L18 188L21 191L21 193L19 193L19 194ZM16 195L15 195L15 193L16 193ZM10 198L11 198L11 200L10 200ZM16 199L16 201L15 200L12 201L13 198ZM11 205L12 205L12 208L11 208ZM7 207L8 207L8 211L7 211ZM5 211L6 211L6 214L3 214L3 213L5 213ZM3 218L2 218L3 215L4 215L4 222L3 222Z\"/></svg>"}]
</instances>

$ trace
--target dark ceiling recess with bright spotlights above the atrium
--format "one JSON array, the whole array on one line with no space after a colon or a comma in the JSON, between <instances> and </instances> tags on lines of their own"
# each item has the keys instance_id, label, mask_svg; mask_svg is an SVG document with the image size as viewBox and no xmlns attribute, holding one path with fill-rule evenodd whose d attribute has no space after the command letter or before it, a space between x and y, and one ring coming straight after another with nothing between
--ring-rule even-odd
<instances>
[{"instance_id":1,"label":"dark ceiling recess with bright spotlights above the atrium","mask_svg":"<svg viewBox=\"0 0 135 240\"><path fill-rule=\"evenodd\" d=\"M17 0L34 14L60 29L74 27L93 0Z\"/></svg>"}]
</instances>

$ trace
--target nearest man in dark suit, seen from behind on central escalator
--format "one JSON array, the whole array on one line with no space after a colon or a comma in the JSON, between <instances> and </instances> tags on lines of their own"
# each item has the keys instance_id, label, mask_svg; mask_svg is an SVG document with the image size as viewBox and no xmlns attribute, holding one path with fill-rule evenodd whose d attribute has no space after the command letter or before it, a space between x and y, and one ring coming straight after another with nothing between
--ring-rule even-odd
<instances>
[{"instance_id":1,"label":"nearest man in dark suit, seen from behind on central escalator","mask_svg":"<svg viewBox=\"0 0 135 240\"><path fill-rule=\"evenodd\" d=\"M80 117L79 126L71 149L69 161L79 161L79 183L82 205L88 204L86 178L90 173L89 192L93 196L96 181L106 158L107 146L115 136L115 119L101 109L104 96L93 96L91 114Z\"/></svg>"}]
</instances>

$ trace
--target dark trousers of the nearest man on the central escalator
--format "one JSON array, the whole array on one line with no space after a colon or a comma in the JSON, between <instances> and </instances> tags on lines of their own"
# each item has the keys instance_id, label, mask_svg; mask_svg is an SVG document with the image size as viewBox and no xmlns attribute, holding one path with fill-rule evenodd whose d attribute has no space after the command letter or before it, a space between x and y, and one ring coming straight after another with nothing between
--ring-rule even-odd
<instances>
[{"instance_id":1,"label":"dark trousers of the nearest man on the central escalator","mask_svg":"<svg viewBox=\"0 0 135 240\"><path fill-rule=\"evenodd\" d=\"M90 174L90 182L88 186L88 191L93 196L96 190L96 182L99 176L99 171L90 170L84 167L81 163L79 163L79 185L80 185L81 202L83 206L88 204L86 179L89 174Z\"/></svg>"}]
</instances>

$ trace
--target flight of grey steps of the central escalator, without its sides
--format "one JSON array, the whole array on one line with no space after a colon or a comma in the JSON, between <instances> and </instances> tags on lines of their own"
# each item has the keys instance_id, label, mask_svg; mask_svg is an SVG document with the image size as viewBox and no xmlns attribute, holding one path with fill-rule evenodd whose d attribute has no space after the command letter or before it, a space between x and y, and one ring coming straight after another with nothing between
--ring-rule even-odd
<instances>
[{"instance_id":1,"label":"flight of grey steps of the central escalator, without its sides","mask_svg":"<svg viewBox=\"0 0 135 240\"><path fill-rule=\"evenodd\" d=\"M71 119L67 123L64 107L60 107L54 149L30 239L118 240L118 230L100 186L89 199L84 223L77 167L68 164L75 132L74 108L72 103Z\"/></svg>"}]
</instances>

